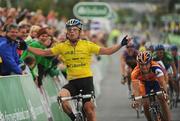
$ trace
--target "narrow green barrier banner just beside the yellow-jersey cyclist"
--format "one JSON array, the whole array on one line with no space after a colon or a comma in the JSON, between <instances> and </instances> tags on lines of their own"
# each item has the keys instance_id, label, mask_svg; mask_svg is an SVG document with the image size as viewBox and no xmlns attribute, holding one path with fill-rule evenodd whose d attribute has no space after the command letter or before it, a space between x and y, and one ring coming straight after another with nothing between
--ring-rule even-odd
<instances>
[{"instance_id":1,"label":"narrow green barrier banner just beside the yellow-jersey cyclist","mask_svg":"<svg viewBox=\"0 0 180 121\"><path fill-rule=\"evenodd\" d=\"M70 121L70 119L62 111L62 109L59 108L57 102L59 89L53 78L51 78L50 76L46 76L46 78L43 80L43 87L48 96L48 102L53 115L53 121Z\"/></svg>"}]
</instances>

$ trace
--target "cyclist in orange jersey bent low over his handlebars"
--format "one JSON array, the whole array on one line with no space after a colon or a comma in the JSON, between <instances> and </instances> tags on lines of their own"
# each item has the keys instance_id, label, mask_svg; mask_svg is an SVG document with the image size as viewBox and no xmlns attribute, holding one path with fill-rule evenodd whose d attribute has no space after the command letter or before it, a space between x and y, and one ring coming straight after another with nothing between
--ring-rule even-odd
<instances>
[{"instance_id":1,"label":"cyclist in orange jersey bent low over his handlebars","mask_svg":"<svg viewBox=\"0 0 180 121\"><path fill-rule=\"evenodd\" d=\"M132 91L134 96L149 94L151 90L155 92L164 90L167 91L166 82L161 66L152 61L152 56L149 51L140 52L137 55L137 66L131 73ZM158 97L163 114L167 121L171 121L170 111L167 101L164 96ZM139 104L139 102L135 102ZM148 121L151 121L149 113L149 101L143 100L144 114Z\"/></svg>"}]
</instances>

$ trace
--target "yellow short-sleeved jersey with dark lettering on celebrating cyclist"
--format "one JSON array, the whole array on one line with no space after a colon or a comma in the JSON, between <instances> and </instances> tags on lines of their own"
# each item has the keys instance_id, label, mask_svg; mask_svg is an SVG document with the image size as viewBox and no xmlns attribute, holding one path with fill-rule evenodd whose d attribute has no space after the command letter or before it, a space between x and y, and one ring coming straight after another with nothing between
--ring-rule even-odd
<instances>
[{"instance_id":1,"label":"yellow short-sleeved jersey with dark lettering on celebrating cyclist","mask_svg":"<svg viewBox=\"0 0 180 121\"><path fill-rule=\"evenodd\" d=\"M51 48L54 55L61 55L67 66L68 80L92 76L91 56L98 54L100 46L87 40L79 40L72 46L69 40Z\"/></svg>"}]
</instances>

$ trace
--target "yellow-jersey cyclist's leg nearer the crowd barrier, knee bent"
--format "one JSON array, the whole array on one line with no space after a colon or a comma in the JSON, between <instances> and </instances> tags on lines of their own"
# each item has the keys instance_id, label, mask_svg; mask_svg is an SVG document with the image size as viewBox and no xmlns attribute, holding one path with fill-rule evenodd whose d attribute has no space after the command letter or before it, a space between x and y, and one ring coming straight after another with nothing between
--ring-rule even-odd
<instances>
[{"instance_id":1,"label":"yellow-jersey cyclist's leg nearer the crowd barrier, knee bent","mask_svg":"<svg viewBox=\"0 0 180 121\"><path fill-rule=\"evenodd\" d=\"M73 94L74 92L75 92L74 87L72 86L71 83L69 83L60 90L59 96L66 97L66 96L75 95L75 94ZM63 101L61 103L62 103L63 111L71 118L72 121L74 121L76 117L72 111L72 108L71 108L71 105L69 104L69 102Z\"/></svg>"}]
</instances>

